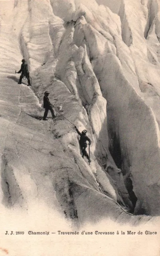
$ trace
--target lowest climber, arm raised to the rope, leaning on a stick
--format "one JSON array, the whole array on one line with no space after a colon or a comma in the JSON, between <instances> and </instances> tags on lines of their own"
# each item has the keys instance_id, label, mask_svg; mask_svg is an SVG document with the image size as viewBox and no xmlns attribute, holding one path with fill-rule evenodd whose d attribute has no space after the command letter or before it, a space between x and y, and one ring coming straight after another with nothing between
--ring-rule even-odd
<instances>
[{"instance_id":1,"label":"lowest climber, arm raised to the rope, leaning on a stick","mask_svg":"<svg viewBox=\"0 0 160 256\"><path fill-rule=\"evenodd\" d=\"M84 156L85 156L88 159L88 162L91 162L91 160L89 159L89 155L87 154L87 151L86 151L87 140L89 141L89 145L91 145L91 140L86 135L87 131L83 130L82 132L79 132L79 130L77 129L76 126L75 126L75 130L80 135L79 144L80 144L80 147L82 150L82 157L84 158Z\"/></svg>"}]
</instances>

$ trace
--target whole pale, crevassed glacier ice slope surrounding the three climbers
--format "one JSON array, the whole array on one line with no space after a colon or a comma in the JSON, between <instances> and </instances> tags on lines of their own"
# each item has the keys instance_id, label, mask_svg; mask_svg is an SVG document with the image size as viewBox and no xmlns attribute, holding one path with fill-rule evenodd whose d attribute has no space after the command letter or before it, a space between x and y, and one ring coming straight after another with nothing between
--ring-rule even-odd
<instances>
[{"instance_id":1,"label":"whole pale, crevassed glacier ice slope surrounding the three climbers","mask_svg":"<svg viewBox=\"0 0 160 256\"><path fill-rule=\"evenodd\" d=\"M133 213L160 214L155 6L137 1L131 11L129 0L116 9L107 0L17 0L6 12L0 8L5 207L30 211L34 202L45 202L77 226L102 218L137 224L150 217ZM22 58L32 88L14 76ZM50 116L40 120L45 90L55 124ZM92 140L90 165L73 124Z\"/></svg>"}]
</instances>

